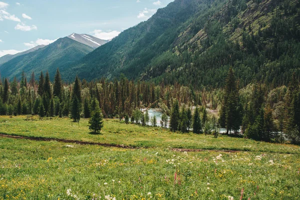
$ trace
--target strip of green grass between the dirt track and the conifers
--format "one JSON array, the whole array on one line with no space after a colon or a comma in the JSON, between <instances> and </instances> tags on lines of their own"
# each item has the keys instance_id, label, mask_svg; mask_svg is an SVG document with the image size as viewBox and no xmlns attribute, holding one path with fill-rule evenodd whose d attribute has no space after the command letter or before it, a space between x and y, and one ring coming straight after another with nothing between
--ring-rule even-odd
<instances>
[{"instance_id":1,"label":"strip of green grass between the dirt track and the conifers","mask_svg":"<svg viewBox=\"0 0 300 200\"><path fill-rule=\"evenodd\" d=\"M21 136L124 144L134 147L228 149L300 154L300 149L296 145L259 142L226 135L213 138L211 135L173 133L160 127L119 123L117 119L105 119L101 134L94 135L89 133L87 119L73 123L68 118L39 120L38 117L0 116L0 132Z\"/></svg>"}]
</instances>

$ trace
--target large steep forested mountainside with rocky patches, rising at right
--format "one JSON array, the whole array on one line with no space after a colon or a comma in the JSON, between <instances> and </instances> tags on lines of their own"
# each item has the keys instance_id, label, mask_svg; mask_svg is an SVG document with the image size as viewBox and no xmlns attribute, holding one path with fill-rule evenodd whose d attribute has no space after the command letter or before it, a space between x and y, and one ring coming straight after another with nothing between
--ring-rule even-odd
<instances>
[{"instance_id":1,"label":"large steep forested mountainside with rocky patches, rising at right","mask_svg":"<svg viewBox=\"0 0 300 200\"><path fill-rule=\"evenodd\" d=\"M174 0L62 71L92 79L221 86L230 66L241 86L300 77L299 0Z\"/></svg>"}]
</instances>

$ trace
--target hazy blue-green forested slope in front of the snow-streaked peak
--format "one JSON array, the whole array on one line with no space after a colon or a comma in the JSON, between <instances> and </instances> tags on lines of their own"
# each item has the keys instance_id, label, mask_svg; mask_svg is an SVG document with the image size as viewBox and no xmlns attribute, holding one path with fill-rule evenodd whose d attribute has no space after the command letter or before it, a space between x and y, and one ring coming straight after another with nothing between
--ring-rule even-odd
<instances>
[{"instance_id":1,"label":"hazy blue-green forested slope in front of the snow-streaked peak","mask_svg":"<svg viewBox=\"0 0 300 200\"><path fill-rule=\"evenodd\" d=\"M33 52L17 56L0 65L0 72L3 77L20 77L22 71L27 76L34 71L39 74L40 71L49 71L53 78L57 67L74 62L93 50L92 47L77 42L68 37L59 38L53 43L39 48Z\"/></svg>"}]
</instances>

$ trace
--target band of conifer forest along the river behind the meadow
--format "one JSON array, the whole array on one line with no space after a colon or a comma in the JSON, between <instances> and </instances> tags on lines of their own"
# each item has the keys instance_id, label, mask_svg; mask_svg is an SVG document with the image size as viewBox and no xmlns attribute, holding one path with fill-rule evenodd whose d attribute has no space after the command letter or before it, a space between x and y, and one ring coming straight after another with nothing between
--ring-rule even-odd
<instances>
[{"instance_id":1,"label":"band of conifer forest along the river behind the meadow","mask_svg":"<svg viewBox=\"0 0 300 200\"><path fill-rule=\"evenodd\" d=\"M300 85L295 73L287 86L271 89L255 82L239 87L235 72L229 68L224 88L155 84L133 81L121 76L113 81L100 79L87 82L77 76L65 83L57 68L54 81L41 72L38 81L32 72L27 81L23 73L18 81L0 82L1 115L39 115L70 117L73 122L90 118L100 109L98 117L124 118L141 125L161 125L172 131L196 134L219 133L255 140L300 142ZM98 108L97 108L98 107ZM161 108L161 124L150 119L141 108Z\"/></svg>"}]
</instances>

